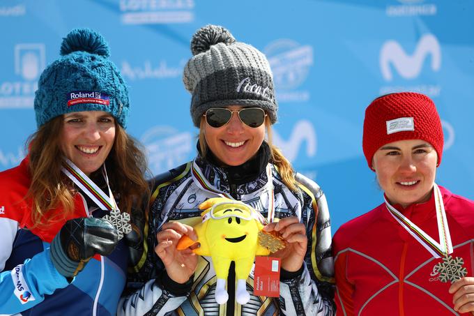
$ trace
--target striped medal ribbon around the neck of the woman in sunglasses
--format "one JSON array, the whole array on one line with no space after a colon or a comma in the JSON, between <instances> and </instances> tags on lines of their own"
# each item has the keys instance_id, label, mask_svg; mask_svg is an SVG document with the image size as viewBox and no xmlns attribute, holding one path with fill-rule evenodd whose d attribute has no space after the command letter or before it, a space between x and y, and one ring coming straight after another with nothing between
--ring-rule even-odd
<instances>
[{"instance_id":1,"label":"striped medal ribbon around the neck of the woman in sunglasses","mask_svg":"<svg viewBox=\"0 0 474 316\"><path fill-rule=\"evenodd\" d=\"M267 188L268 192L268 216L267 220L268 223L273 222L273 217L275 216L275 201L274 201L274 193L273 193L273 176L270 164L266 167L266 174L267 174L267 184L264 188ZM217 190L209 181L206 179L204 174L202 174L201 169L196 163L196 159L192 160L192 168L191 168L191 175L192 180L196 185L201 189L209 193L213 193L220 197L227 197L227 199L235 200L229 193L225 193L224 191ZM260 213L257 211L257 213Z\"/></svg>"}]
</instances>

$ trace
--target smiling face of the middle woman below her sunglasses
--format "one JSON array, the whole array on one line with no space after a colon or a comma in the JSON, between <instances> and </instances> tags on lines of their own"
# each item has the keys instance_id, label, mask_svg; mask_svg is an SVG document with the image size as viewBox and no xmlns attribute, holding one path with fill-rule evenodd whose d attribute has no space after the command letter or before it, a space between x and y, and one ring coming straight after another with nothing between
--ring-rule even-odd
<instances>
[{"instance_id":1,"label":"smiling face of the middle woman below her sunglasses","mask_svg":"<svg viewBox=\"0 0 474 316\"><path fill-rule=\"evenodd\" d=\"M239 110L242 107L232 105L227 108ZM217 159L225 165L238 166L252 158L259 150L265 137L265 124L251 128L242 123L237 112L234 112L229 123L220 128L204 123L204 137Z\"/></svg>"}]
</instances>

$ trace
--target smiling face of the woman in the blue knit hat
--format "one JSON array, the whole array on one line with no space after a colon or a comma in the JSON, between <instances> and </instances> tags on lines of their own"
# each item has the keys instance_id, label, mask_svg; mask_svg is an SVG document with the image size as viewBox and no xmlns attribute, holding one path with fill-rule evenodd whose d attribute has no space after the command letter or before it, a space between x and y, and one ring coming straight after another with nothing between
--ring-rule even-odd
<instances>
[{"instance_id":1,"label":"smiling face of the woman in the blue knit hat","mask_svg":"<svg viewBox=\"0 0 474 316\"><path fill-rule=\"evenodd\" d=\"M63 115L61 151L88 176L109 155L115 139L114 116L102 111Z\"/></svg>"}]
</instances>

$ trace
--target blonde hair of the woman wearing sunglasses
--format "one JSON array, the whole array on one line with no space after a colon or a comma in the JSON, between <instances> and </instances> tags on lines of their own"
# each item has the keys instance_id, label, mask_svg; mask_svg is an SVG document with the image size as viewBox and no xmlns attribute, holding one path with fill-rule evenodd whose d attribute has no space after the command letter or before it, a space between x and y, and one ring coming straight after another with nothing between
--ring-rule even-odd
<instances>
[{"instance_id":1,"label":"blonde hair of the woman wearing sunglasses","mask_svg":"<svg viewBox=\"0 0 474 316\"><path fill-rule=\"evenodd\" d=\"M206 143L206 136L204 135L204 126L206 124L206 119L204 116L201 117L201 122L199 123L199 149L201 150L201 156L206 157L206 153L208 151L208 146ZM272 142L272 126L270 123L270 119L268 116L265 117L265 128L267 133L267 140L263 140L263 142L267 142L268 146L270 147L270 163L273 163L275 167L277 167L278 173L282 177L282 181L290 190L297 191L298 187L296 186L296 179L295 179L295 172L293 167L291 167L291 163L288 159L283 156L282 151L277 148L277 146L273 145Z\"/></svg>"}]
</instances>

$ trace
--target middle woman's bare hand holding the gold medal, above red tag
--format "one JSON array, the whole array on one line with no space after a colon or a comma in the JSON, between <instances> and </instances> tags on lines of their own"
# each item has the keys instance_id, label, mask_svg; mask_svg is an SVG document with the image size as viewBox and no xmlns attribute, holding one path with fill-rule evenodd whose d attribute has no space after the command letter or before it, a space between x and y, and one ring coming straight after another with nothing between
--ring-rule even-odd
<instances>
[{"instance_id":1,"label":"middle woman's bare hand holding the gold medal, above red tag","mask_svg":"<svg viewBox=\"0 0 474 316\"><path fill-rule=\"evenodd\" d=\"M298 271L305 259L308 239L306 227L297 217L282 218L263 227L264 232L279 232L285 241L285 248L272 256L282 259L282 268L289 272Z\"/></svg>"}]
</instances>

